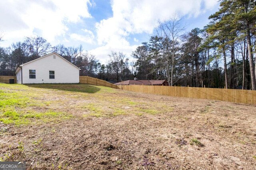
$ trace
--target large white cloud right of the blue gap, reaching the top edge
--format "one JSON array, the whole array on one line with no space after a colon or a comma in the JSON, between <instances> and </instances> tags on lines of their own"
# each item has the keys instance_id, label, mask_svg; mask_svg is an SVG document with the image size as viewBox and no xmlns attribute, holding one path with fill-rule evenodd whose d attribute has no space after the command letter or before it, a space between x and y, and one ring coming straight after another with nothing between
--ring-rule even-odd
<instances>
[{"instance_id":1,"label":"large white cloud right of the blue gap, reaching the top edge","mask_svg":"<svg viewBox=\"0 0 256 170\"><path fill-rule=\"evenodd\" d=\"M131 34L151 34L158 20L170 19L175 13L179 17L196 18L218 4L217 0L112 0L113 16L96 23L99 47L94 54L134 49L128 39ZM138 39L134 38L135 42ZM138 46L138 45L137 45ZM101 50L99 52L99 50ZM106 55L105 55L106 56ZM96 55L96 57L98 57Z\"/></svg>"}]
</instances>

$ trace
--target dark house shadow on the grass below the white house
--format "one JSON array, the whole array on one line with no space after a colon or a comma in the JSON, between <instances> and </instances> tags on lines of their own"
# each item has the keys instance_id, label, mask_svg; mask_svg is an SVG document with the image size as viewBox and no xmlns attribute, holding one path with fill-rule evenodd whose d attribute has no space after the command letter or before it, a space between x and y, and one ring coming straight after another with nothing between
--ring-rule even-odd
<instances>
[{"instance_id":1,"label":"dark house shadow on the grass below the white house","mask_svg":"<svg viewBox=\"0 0 256 170\"><path fill-rule=\"evenodd\" d=\"M96 93L101 89L89 84L24 84L28 87L58 89L70 92Z\"/></svg>"}]
</instances>

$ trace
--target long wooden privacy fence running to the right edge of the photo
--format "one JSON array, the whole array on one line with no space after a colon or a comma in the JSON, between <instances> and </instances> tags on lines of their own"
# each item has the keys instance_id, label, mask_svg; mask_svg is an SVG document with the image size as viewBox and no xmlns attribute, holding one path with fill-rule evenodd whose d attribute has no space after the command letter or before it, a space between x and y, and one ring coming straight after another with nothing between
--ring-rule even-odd
<instances>
[{"instance_id":1,"label":"long wooden privacy fence running to the right edge of the photo","mask_svg":"<svg viewBox=\"0 0 256 170\"><path fill-rule=\"evenodd\" d=\"M226 102L256 105L256 90L141 85L118 85L118 88L122 90L142 92L148 94L221 100Z\"/></svg>"}]
</instances>

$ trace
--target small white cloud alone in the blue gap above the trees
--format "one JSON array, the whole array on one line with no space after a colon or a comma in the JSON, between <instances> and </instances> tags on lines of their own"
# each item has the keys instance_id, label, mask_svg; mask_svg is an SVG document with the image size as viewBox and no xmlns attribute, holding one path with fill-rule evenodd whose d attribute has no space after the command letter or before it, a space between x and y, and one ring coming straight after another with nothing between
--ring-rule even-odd
<instances>
[{"instance_id":1,"label":"small white cloud alone in the blue gap above the trees","mask_svg":"<svg viewBox=\"0 0 256 170\"><path fill-rule=\"evenodd\" d=\"M84 43L88 43L88 44L94 44L94 34L92 33L92 31L88 30L88 29L82 29L82 31L85 32L85 35L79 35L76 33L72 33L70 35L71 39L77 40L77 41L82 41Z\"/></svg>"}]
</instances>

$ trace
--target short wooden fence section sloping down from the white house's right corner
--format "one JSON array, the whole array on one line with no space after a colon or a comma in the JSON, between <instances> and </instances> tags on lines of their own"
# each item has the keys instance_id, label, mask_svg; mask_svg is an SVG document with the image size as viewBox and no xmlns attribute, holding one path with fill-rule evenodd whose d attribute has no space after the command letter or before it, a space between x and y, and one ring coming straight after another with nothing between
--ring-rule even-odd
<instances>
[{"instance_id":1,"label":"short wooden fence section sloping down from the white house's right corner","mask_svg":"<svg viewBox=\"0 0 256 170\"><path fill-rule=\"evenodd\" d=\"M107 82L105 80L100 80L98 78L93 78L89 76L80 76L79 77L80 83L85 83L85 84L92 84L96 86L105 86L105 87L112 87L112 88L117 88L116 85Z\"/></svg>"}]
</instances>

